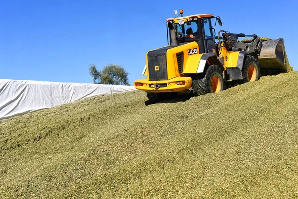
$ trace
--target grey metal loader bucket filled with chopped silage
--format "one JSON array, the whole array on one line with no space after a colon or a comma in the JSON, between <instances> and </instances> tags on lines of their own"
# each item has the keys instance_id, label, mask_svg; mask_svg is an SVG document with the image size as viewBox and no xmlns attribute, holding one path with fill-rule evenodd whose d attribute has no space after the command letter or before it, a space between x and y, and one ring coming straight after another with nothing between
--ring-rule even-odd
<instances>
[{"instance_id":1,"label":"grey metal loader bucket filled with chopped silage","mask_svg":"<svg viewBox=\"0 0 298 199\"><path fill-rule=\"evenodd\" d=\"M261 69L286 70L284 39L263 41L258 62Z\"/></svg>"}]
</instances>

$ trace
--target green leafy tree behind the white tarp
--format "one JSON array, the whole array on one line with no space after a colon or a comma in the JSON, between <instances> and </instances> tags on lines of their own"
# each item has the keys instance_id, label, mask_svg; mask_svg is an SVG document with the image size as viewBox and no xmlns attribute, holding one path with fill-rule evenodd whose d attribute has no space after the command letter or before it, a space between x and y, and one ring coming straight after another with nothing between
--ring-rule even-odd
<instances>
[{"instance_id":1,"label":"green leafy tree behind the white tarp","mask_svg":"<svg viewBox=\"0 0 298 199\"><path fill-rule=\"evenodd\" d=\"M103 70L97 70L94 64L89 67L89 73L96 84L130 85L128 72L119 64L108 64Z\"/></svg>"}]
</instances>

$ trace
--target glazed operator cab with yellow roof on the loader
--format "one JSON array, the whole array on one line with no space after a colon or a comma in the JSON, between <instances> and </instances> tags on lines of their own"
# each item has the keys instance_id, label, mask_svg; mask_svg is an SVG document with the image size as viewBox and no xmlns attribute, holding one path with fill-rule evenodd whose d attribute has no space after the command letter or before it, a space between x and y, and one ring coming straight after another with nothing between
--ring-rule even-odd
<instances>
[{"instance_id":1,"label":"glazed operator cab with yellow roof on the loader","mask_svg":"<svg viewBox=\"0 0 298 199\"><path fill-rule=\"evenodd\" d=\"M191 15L167 19L167 24L174 25L178 45L195 41L199 44L200 53L215 53L215 30L212 28L212 18L214 18L212 14ZM169 29L167 29L167 36L168 45L172 45Z\"/></svg>"}]
</instances>

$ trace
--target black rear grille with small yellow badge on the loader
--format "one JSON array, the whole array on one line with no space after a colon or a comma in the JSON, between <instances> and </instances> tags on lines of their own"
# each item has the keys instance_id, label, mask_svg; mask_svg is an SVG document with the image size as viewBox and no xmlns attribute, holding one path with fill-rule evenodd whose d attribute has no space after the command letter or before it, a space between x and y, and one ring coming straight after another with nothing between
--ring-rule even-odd
<instances>
[{"instance_id":1,"label":"black rear grille with small yellow badge on the loader","mask_svg":"<svg viewBox=\"0 0 298 199\"><path fill-rule=\"evenodd\" d=\"M148 55L149 81L167 80L166 55Z\"/></svg>"}]
</instances>

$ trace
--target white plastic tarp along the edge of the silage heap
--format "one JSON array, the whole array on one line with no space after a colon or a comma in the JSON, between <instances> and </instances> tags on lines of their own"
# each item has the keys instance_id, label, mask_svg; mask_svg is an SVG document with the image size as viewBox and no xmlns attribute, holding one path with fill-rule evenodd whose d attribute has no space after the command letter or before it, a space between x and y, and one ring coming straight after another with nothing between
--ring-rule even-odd
<instances>
[{"instance_id":1,"label":"white plastic tarp along the edge of the silage heap","mask_svg":"<svg viewBox=\"0 0 298 199\"><path fill-rule=\"evenodd\" d=\"M0 120L134 86L0 79Z\"/></svg>"}]
</instances>

